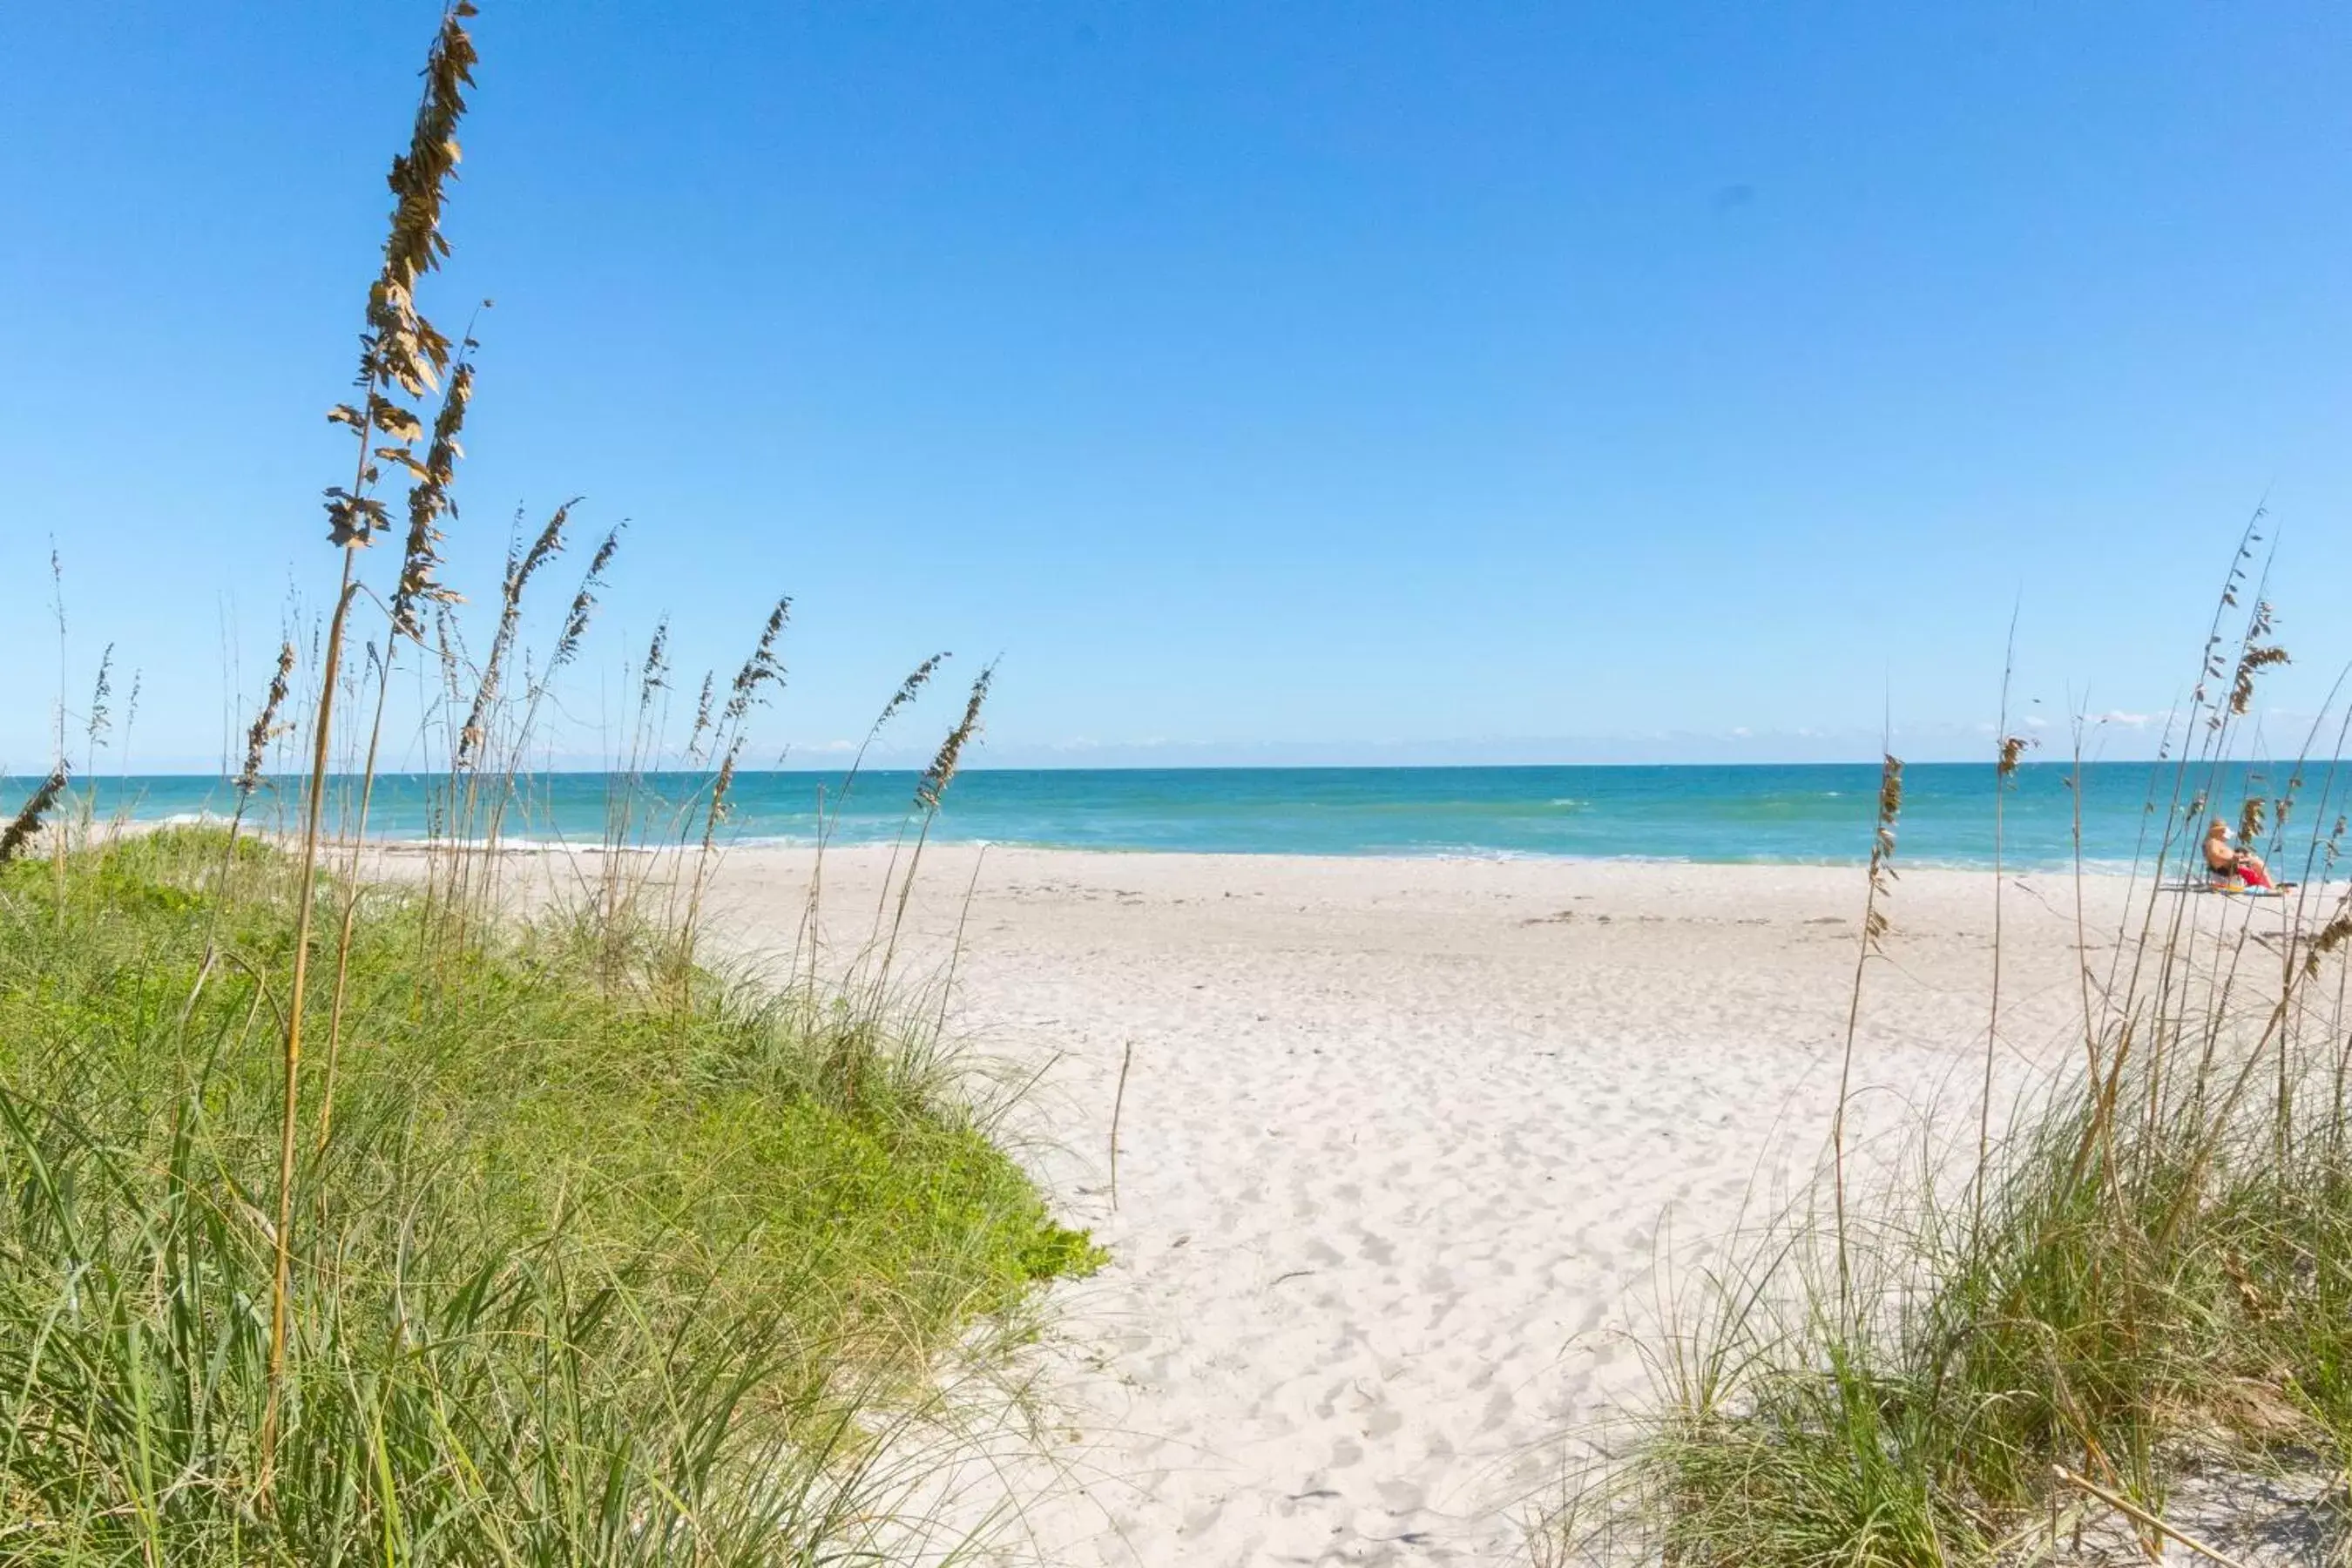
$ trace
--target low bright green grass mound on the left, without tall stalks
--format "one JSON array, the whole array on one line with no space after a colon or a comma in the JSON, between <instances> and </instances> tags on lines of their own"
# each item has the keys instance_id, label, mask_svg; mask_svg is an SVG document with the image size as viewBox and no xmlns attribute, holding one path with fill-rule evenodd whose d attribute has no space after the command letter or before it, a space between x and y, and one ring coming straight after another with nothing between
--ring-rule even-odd
<instances>
[{"instance_id":1,"label":"low bright green grass mound on the left, without tall stalks","mask_svg":"<svg viewBox=\"0 0 2352 1568\"><path fill-rule=\"evenodd\" d=\"M920 1016L680 1001L562 919L452 950L369 886L270 1455L299 870L221 830L61 865L0 872L9 1561L856 1561L922 1528L891 1434L950 1349L1096 1258Z\"/></svg>"}]
</instances>

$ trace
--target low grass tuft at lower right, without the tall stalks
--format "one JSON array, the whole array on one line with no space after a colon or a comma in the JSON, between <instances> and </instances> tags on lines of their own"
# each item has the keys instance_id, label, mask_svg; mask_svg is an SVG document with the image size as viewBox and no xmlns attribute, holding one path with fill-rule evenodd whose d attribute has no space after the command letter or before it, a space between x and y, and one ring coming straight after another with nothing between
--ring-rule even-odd
<instances>
[{"instance_id":1,"label":"low grass tuft at lower right, without the tall stalks","mask_svg":"<svg viewBox=\"0 0 2352 1568\"><path fill-rule=\"evenodd\" d=\"M2267 1112L2223 1147L2164 1114L2079 1168L2082 1098L2044 1100L1994 1143L1983 1218L1924 1173L1856 1206L1844 1307L1835 1241L1792 1215L1693 1286L1623 1462L1555 1523L1564 1556L2049 1561L2053 1512L2060 1547L2110 1514L2060 1467L2154 1516L2190 1469L2288 1469L2312 1528L2340 1528L2352 1161L2333 1077L2300 1077L2312 1112L2286 1124L2286 1161ZM2194 1088L2164 1095L2190 1112Z\"/></svg>"}]
</instances>

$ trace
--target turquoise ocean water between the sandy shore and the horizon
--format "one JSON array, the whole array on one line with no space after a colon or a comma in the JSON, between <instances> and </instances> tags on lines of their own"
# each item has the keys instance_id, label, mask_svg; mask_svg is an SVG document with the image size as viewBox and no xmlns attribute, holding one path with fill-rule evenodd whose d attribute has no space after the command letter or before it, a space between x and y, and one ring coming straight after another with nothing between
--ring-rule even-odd
<instances>
[{"instance_id":1,"label":"turquoise ocean water between the sandy shore and the horizon","mask_svg":"<svg viewBox=\"0 0 2352 1568\"><path fill-rule=\"evenodd\" d=\"M2004 856L2020 867L2060 867L2074 856L2072 769L2027 764L2006 797ZM2176 769L2105 762L2084 769L2084 860L2129 865L2152 851ZM369 832L423 837L430 792L442 776L388 776L376 783ZM1305 856L1583 856L1658 860L1858 863L1870 853L1875 764L1806 766L1470 766L1470 769L974 769L955 778L934 825L941 839ZM2249 792L2284 795L2286 769L2201 773L2216 806L2237 818ZM654 776L670 804L699 776ZM1915 764L1905 773L1900 860L1990 865L1994 776L1990 764ZM19 799L28 780L7 780ZM2300 827L2333 816L2319 769L2305 780ZM546 773L520 785L503 832L593 844L602 835L614 780L602 773ZM889 839L906 820L915 773L856 778L835 842ZM134 818L223 816L235 802L216 778L99 778L96 811ZM818 802L840 802L840 776L818 771L741 773L729 842L807 842ZM2147 813L2154 799L2159 811ZM292 785L256 802L256 816L287 820ZM699 823L696 823L699 825Z\"/></svg>"}]
</instances>

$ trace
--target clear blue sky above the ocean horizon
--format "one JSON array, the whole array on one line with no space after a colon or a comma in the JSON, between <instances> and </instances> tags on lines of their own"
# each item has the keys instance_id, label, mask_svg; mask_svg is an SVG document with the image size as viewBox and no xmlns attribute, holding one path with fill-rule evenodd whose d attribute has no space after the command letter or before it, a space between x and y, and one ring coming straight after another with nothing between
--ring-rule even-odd
<instances>
[{"instance_id":1,"label":"clear blue sky above the ocean horizon","mask_svg":"<svg viewBox=\"0 0 2352 1568\"><path fill-rule=\"evenodd\" d=\"M214 759L223 623L252 691L325 595L435 16L0 12L0 764L47 750L49 534L151 764ZM1860 757L1886 708L1969 755L2020 590L2020 705L2171 703L2265 491L2272 701L2352 654L2340 5L475 31L454 571L517 501L633 520L590 729L661 609L731 665L793 592L809 759L938 646L1004 654L997 764Z\"/></svg>"}]
</instances>

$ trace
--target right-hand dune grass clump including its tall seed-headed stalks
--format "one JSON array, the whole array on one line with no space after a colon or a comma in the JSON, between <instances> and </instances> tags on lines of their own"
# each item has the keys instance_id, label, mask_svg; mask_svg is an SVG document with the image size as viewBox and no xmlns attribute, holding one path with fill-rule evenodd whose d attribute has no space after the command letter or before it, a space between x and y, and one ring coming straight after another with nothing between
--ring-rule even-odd
<instances>
[{"instance_id":1,"label":"right-hand dune grass clump including its tall seed-headed stalks","mask_svg":"<svg viewBox=\"0 0 2352 1568\"><path fill-rule=\"evenodd\" d=\"M1651 1396L1538 1530L1543 1559L1943 1568L2122 1544L2239 1561L2230 1509L2190 1497L2192 1523L2166 1514L2206 1472L2293 1479L2293 1549L2347 1561L2347 802L2321 752L2258 766L2277 797L2218 802L2253 682L2284 663L2249 583L2256 543L2249 529L2157 769L2119 926L2091 931L2077 900L2072 1067L1994 1131L1994 954L1966 1135L1931 1112L1863 1182L1849 1018L1818 1185L1736 1239L1729 1265L1677 1279L1646 1342ZM2002 738L1997 790L2018 750ZM2260 903L2206 891L2197 842L2216 809L2256 835L2267 823L2260 846L2296 886ZM1856 1009L1900 940L1898 816L1884 799Z\"/></svg>"}]
</instances>

